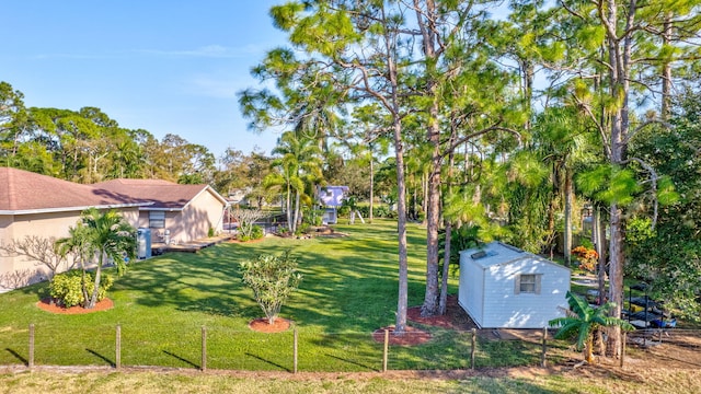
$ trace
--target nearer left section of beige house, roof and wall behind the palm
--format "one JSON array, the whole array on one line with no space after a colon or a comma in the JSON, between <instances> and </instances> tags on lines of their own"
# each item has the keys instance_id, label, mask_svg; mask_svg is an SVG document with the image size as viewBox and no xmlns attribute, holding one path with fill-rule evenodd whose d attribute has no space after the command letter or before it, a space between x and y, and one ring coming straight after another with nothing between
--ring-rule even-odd
<instances>
[{"instance_id":1,"label":"nearer left section of beige house, roof and wall behind the palm","mask_svg":"<svg viewBox=\"0 0 701 394\"><path fill-rule=\"evenodd\" d=\"M101 194L90 185L0 167L0 244L21 242L31 235L68 236L68 229L90 207L117 209L136 227L139 207L148 204L128 196ZM45 280L48 274L47 267L26 256L0 253L0 290Z\"/></svg>"}]
</instances>

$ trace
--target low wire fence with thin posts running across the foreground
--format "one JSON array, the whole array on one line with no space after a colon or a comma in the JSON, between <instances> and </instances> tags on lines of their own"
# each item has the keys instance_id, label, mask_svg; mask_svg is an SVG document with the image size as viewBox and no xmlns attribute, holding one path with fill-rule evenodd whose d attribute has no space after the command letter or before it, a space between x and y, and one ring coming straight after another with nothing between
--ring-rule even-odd
<instances>
[{"instance_id":1,"label":"low wire fence with thin posts running across the foreground","mask_svg":"<svg viewBox=\"0 0 701 394\"><path fill-rule=\"evenodd\" d=\"M545 367L571 359L571 341L552 340L545 329L520 337L496 331L406 332L398 344L390 332L319 333L292 327L265 334L222 326L76 326L58 332L30 325L0 333L0 366L164 367L195 370L382 372ZM414 337L414 336L422 336ZM641 329L629 333L624 358L655 358L667 367L701 367L701 331Z\"/></svg>"}]
</instances>

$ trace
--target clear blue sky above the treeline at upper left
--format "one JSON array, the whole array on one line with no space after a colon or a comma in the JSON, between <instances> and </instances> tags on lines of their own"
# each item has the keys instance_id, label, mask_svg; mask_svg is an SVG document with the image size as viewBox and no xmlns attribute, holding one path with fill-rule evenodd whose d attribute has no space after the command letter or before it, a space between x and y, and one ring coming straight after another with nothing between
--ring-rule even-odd
<instances>
[{"instance_id":1,"label":"clear blue sky above the treeline at upper left","mask_svg":"<svg viewBox=\"0 0 701 394\"><path fill-rule=\"evenodd\" d=\"M0 81L26 107L99 107L159 140L175 134L219 158L269 153L279 134L248 129L237 93L285 45L268 16L283 0L4 1Z\"/></svg>"}]
</instances>

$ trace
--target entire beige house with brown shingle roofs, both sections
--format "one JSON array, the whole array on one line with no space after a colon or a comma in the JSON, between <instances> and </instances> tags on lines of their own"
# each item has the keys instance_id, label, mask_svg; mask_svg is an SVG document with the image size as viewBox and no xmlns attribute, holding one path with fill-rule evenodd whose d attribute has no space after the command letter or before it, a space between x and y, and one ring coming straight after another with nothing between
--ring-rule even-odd
<instances>
[{"instance_id":1,"label":"entire beige house with brown shingle roofs, both sections","mask_svg":"<svg viewBox=\"0 0 701 394\"><path fill-rule=\"evenodd\" d=\"M220 232L227 206L208 185L158 179L81 185L0 167L0 243L4 245L31 235L68 236L69 228L91 207L118 210L133 227L150 229L154 242L188 242ZM47 267L26 256L0 253L0 290L44 280L48 274Z\"/></svg>"}]
</instances>

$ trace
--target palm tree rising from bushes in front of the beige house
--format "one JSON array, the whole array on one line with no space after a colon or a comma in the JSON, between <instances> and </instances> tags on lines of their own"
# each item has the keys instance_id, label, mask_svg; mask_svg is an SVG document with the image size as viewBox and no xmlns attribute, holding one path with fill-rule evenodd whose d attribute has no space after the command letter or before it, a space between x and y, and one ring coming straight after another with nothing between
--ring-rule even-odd
<instances>
[{"instance_id":1,"label":"palm tree rising from bushes in front of the beige house","mask_svg":"<svg viewBox=\"0 0 701 394\"><path fill-rule=\"evenodd\" d=\"M92 309L97 303L102 267L112 260L117 267L117 275L120 276L126 270L125 257L136 257L135 233L135 229L116 210L103 213L93 207L82 212L80 222L71 229L68 239L57 242L62 250L77 252L81 256L83 283L85 266L82 262L91 257L97 259L95 281L85 309ZM87 297L87 289L84 296Z\"/></svg>"}]
</instances>

